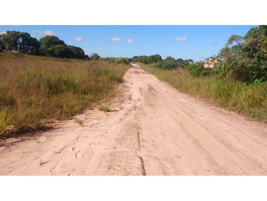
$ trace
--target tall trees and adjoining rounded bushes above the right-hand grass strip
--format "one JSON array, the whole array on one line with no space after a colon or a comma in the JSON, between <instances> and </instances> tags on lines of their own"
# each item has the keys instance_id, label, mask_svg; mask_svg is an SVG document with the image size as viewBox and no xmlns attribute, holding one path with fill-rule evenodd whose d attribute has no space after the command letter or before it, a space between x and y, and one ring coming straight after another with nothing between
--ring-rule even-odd
<instances>
[{"instance_id":1,"label":"tall trees and adjoining rounded bushes above the right-hand grass strip","mask_svg":"<svg viewBox=\"0 0 267 201\"><path fill-rule=\"evenodd\" d=\"M246 83L267 81L267 25L250 28L244 37L232 35L215 58L187 67L195 77L217 74Z\"/></svg>"}]
</instances>

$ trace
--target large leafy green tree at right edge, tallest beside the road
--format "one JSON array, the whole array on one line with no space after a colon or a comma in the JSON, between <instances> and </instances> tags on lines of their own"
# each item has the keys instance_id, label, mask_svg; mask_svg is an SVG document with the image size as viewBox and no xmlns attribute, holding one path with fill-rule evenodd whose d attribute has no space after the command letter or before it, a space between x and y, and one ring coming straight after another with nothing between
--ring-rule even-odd
<instances>
[{"instance_id":1,"label":"large leafy green tree at right edge, tallest beside the road","mask_svg":"<svg viewBox=\"0 0 267 201\"><path fill-rule=\"evenodd\" d=\"M244 37L232 35L219 53L219 72L244 82L267 81L267 25L251 28Z\"/></svg>"}]
</instances>

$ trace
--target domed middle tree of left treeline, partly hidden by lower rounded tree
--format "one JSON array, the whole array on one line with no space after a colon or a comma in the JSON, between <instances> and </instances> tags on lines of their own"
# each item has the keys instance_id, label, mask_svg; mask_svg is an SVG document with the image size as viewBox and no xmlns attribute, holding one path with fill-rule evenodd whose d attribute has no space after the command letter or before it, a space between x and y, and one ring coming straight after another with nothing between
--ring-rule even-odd
<instances>
[{"instance_id":1,"label":"domed middle tree of left treeline, partly hidden by lower rounded tree","mask_svg":"<svg viewBox=\"0 0 267 201\"><path fill-rule=\"evenodd\" d=\"M40 50L43 55L48 55L48 49L55 45L67 46L63 40L56 36L45 36L40 38ZM61 47L62 48L62 47Z\"/></svg>"}]
</instances>

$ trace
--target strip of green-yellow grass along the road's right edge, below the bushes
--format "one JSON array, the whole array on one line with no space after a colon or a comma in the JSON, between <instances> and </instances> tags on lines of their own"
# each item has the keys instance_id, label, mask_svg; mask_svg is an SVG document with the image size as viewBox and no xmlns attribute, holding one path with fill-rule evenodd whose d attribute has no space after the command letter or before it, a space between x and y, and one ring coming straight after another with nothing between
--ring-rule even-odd
<instances>
[{"instance_id":1,"label":"strip of green-yellow grass along the road's right edge, below the bushes","mask_svg":"<svg viewBox=\"0 0 267 201\"><path fill-rule=\"evenodd\" d=\"M253 85L216 76L195 78L185 70L163 70L138 63L145 71L185 93L205 98L212 103L246 116L267 122L267 85Z\"/></svg>"}]
</instances>

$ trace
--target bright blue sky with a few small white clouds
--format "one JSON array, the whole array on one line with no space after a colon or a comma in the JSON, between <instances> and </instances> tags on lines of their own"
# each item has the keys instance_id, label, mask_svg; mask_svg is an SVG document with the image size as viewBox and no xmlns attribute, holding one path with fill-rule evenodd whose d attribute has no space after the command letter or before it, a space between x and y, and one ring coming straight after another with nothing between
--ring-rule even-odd
<instances>
[{"instance_id":1,"label":"bright blue sky with a few small white clouds","mask_svg":"<svg viewBox=\"0 0 267 201\"><path fill-rule=\"evenodd\" d=\"M67 45L83 48L88 55L95 52L101 57L133 57L160 54L162 58L193 59L217 54L233 35L244 36L256 25L19 25L0 26L7 30L28 32L40 39L45 34L55 35ZM76 40L75 40L76 39Z\"/></svg>"}]
</instances>

